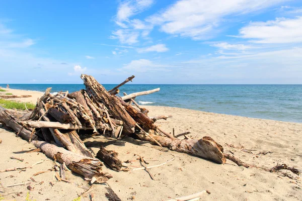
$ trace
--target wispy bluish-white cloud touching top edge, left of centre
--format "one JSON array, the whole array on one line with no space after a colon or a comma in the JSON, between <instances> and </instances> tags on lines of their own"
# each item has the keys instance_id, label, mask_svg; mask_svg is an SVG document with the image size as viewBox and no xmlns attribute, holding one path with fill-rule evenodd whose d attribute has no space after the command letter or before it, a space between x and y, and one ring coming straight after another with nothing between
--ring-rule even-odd
<instances>
[{"instance_id":1,"label":"wispy bluish-white cloud touching top edge, left of centre","mask_svg":"<svg viewBox=\"0 0 302 201\"><path fill-rule=\"evenodd\" d=\"M116 23L122 28L127 26L123 23L130 17L143 12L153 4L153 0L128 0L123 1L117 9Z\"/></svg>"}]
</instances>

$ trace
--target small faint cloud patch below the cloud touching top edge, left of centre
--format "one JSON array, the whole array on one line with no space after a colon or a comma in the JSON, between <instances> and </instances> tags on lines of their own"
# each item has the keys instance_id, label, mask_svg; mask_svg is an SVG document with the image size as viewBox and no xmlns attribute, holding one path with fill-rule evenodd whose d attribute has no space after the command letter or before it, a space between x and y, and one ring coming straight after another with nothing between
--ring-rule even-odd
<instances>
[{"instance_id":1,"label":"small faint cloud patch below the cloud touching top edge, left of centre","mask_svg":"<svg viewBox=\"0 0 302 201\"><path fill-rule=\"evenodd\" d=\"M127 29L119 29L115 32L112 32L112 36L110 36L111 39L118 39L120 43L123 44L134 44L137 43L139 33L132 31L132 30L127 30Z\"/></svg>"}]
</instances>

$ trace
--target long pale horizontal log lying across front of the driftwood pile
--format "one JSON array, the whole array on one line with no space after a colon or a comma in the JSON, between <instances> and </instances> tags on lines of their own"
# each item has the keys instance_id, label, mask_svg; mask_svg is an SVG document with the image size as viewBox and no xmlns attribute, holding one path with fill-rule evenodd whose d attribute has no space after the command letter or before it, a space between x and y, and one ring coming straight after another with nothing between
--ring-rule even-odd
<instances>
[{"instance_id":1,"label":"long pale horizontal log lying across front of the driftwood pile","mask_svg":"<svg viewBox=\"0 0 302 201\"><path fill-rule=\"evenodd\" d=\"M30 128L52 128L52 129L70 129L70 130L93 130L92 127L78 126L73 124L62 124L60 122L44 122L44 121L23 121L24 127ZM104 130L105 125L96 126L97 129Z\"/></svg>"}]
</instances>

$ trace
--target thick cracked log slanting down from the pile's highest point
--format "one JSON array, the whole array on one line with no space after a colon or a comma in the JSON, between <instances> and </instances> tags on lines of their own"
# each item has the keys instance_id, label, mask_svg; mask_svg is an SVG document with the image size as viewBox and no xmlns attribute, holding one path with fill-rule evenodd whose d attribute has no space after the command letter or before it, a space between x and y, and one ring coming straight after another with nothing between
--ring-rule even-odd
<instances>
[{"instance_id":1,"label":"thick cracked log slanting down from the pile's highest point","mask_svg":"<svg viewBox=\"0 0 302 201\"><path fill-rule=\"evenodd\" d=\"M94 77L82 74L81 78L88 89L87 92L92 93L99 102L103 103L114 119L123 121L123 132L125 134L134 133L135 121L123 108L120 100L116 96L110 95Z\"/></svg>"}]
</instances>

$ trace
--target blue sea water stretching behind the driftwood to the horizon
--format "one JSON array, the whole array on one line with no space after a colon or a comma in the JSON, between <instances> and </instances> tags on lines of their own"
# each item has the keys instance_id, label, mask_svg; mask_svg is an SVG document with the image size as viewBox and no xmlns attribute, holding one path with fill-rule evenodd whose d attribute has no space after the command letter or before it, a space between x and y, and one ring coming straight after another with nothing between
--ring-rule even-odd
<instances>
[{"instance_id":1,"label":"blue sea water stretching behind the driftwood to the horizon","mask_svg":"<svg viewBox=\"0 0 302 201\"><path fill-rule=\"evenodd\" d=\"M0 84L3 88L6 84ZM111 89L115 84L104 84ZM10 84L10 88L51 92L77 91L84 84ZM169 106L212 113L302 123L302 85L273 84L125 84L127 94L160 87L136 97L141 105Z\"/></svg>"}]
</instances>

